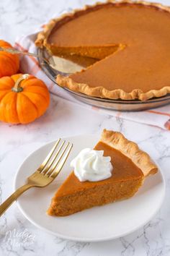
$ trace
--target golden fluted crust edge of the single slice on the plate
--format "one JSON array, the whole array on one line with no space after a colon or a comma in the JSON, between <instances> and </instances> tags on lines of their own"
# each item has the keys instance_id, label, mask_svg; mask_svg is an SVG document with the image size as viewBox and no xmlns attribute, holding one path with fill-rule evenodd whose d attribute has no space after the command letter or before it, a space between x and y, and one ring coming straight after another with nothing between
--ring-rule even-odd
<instances>
[{"instance_id":1,"label":"golden fluted crust edge of the single slice on the plate","mask_svg":"<svg viewBox=\"0 0 170 256\"><path fill-rule=\"evenodd\" d=\"M120 150L121 153L130 158L143 171L144 176L156 174L158 171L158 167L151 161L150 156L140 150L135 142L127 140L120 132L112 132L104 129L100 141L112 148Z\"/></svg>"}]
</instances>

